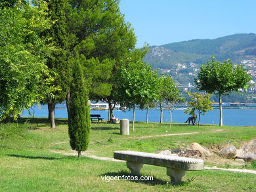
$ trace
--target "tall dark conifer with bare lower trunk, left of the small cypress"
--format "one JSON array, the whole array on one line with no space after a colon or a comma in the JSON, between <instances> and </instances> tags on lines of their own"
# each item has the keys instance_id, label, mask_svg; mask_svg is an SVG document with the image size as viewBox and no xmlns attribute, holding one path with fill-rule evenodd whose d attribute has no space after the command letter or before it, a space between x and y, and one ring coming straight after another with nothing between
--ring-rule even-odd
<instances>
[{"instance_id":1,"label":"tall dark conifer with bare lower trunk, left of the small cypress","mask_svg":"<svg viewBox=\"0 0 256 192\"><path fill-rule=\"evenodd\" d=\"M54 109L55 105L63 102L68 94L71 76L71 66L68 62L69 52L66 43L66 3L67 0L47 0L49 18L53 22L50 29L43 36L48 43L54 45L55 49L47 58L47 67L53 71L54 82L49 86L55 89L47 94L42 103L48 104L49 120L51 128L55 128Z\"/></svg>"}]
</instances>

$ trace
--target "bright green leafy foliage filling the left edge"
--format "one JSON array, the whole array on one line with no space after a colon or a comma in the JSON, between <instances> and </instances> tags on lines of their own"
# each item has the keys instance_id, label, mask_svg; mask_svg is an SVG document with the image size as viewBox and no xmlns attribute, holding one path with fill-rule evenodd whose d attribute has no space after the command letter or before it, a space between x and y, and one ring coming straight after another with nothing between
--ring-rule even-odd
<instances>
[{"instance_id":1,"label":"bright green leafy foliage filling the left edge","mask_svg":"<svg viewBox=\"0 0 256 192\"><path fill-rule=\"evenodd\" d=\"M51 47L39 34L50 27L44 3L18 3L0 13L0 118L19 117L22 109L49 92L53 81L45 55Z\"/></svg>"}]
</instances>

